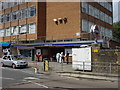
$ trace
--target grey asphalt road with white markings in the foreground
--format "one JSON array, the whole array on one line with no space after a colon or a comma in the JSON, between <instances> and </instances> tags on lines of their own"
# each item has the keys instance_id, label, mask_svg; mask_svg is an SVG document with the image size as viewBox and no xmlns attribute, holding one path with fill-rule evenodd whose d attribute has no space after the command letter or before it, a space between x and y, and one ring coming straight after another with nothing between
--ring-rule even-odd
<instances>
[{"instance_id":1,"label":"grey asphalt road with white markings in the foreground","mask_svg":"<svg viewBox=\"0 0 120 90\"><path fill-rule=\"evenodd\" d=\"M76 79L57 74L34 74L32 68L1 68L3 88L51 88L66 90L71 88L118 88L118 82Z\"/></svg>"}]
</instances>

